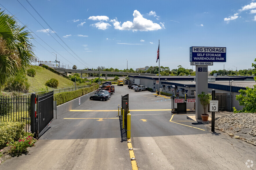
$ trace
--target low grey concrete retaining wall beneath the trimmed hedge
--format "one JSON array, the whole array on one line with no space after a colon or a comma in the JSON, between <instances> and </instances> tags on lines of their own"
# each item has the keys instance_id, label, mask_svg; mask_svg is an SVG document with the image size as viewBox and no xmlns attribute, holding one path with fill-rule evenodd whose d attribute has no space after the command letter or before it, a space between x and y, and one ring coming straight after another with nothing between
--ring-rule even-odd
<instances>
[{"instance_id":1,"label":"low grey concrete retaining wall beneath the trimmed hedge","mask_svg":"<svg viewBox=\"0 0 256 170\"><path fill-rule=\"evenodd\" d=\"M95 91L81 96L80 97L80 105L83 104L86 100L88 100L95 93ZM57 106L57 116L61 115L63 113L66 113L69 110L76 108L77 106L79 106L79 98L76 98L76 99L73 99L66 103L63 103L63 104Z\"/></svg>"}]
</instances>

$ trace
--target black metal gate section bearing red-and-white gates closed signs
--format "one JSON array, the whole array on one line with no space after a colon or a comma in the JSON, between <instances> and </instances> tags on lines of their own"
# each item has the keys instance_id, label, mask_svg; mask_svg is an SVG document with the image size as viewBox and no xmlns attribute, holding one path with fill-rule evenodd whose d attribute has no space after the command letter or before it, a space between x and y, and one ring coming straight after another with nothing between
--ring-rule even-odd
<instances>
[{"instance_id":1,"label":"black metal gate section bearing red-and-white gates closed signs","mask_svg":"<svg viewBox=\"0 0 256 170\"><path fill-rule=\"evenodd\" d=\"M184 113L195 113L195 96L172 96L172 114Z\"/></svg>"}]
</instances>

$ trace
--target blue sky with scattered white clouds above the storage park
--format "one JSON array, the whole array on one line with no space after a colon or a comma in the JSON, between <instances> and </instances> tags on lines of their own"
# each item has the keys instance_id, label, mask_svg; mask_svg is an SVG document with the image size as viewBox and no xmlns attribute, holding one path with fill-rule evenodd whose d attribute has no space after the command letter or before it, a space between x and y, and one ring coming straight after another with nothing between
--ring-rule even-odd
<instances>
[{"instance_id":1,"label":"blue sky with scattered white clouds above the storage park","mask_svg":"<svg viewBox=\"0 0 256 170\"><path fill-rule=\"evenodd\" d=\"M128 69L158 66L158 40L160 66L170 69L192 68L191 46L226 47L227 62L215 62L209 70L223 69L224 64L225 69L252 68L256 58L256 1L251 0L4 0L0 7L36 34L32 43L39 60L54 61L55 52L61 65L75 64L78 69L126 69L126 59Z\"/></svg>"}]
</instances>

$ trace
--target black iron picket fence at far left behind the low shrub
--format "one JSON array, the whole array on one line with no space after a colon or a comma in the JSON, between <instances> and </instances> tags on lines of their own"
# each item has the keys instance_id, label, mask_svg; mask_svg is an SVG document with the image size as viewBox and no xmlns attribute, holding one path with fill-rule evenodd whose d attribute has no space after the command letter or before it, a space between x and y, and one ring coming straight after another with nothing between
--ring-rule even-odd
<instances>
[{"instance_id":1,"label":"black iron picket fence at far left behind the low shrub","mask_svg":"<svg viewBox=\"0 0 256 170\"><path fill-rule=\"evenodd\" d=\"M24 122L24 130L31 131L30 99L30 96L0 96L0 121Z\"/></svg>"}]
</instances>

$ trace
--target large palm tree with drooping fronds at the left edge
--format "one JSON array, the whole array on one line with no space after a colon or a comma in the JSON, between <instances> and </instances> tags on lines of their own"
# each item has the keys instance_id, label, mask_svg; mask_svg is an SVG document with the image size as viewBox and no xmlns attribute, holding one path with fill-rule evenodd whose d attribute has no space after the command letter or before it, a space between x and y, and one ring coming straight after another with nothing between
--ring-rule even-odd
<instances>
[{"instance_id":1,"label":"large palm tree with drooping fronds at the left edge","mask_svg":"<svg viewBox=\"0 0 256 170\"><path fill-rule=\"evenodd\" d=\"M0 11L0 90L6 84L8 77L13 77L20 71L25 71L31 61L35 60L31 34L25 31L4 11Z\"/></svg>"}]
</instances>

